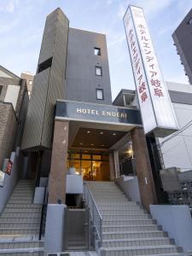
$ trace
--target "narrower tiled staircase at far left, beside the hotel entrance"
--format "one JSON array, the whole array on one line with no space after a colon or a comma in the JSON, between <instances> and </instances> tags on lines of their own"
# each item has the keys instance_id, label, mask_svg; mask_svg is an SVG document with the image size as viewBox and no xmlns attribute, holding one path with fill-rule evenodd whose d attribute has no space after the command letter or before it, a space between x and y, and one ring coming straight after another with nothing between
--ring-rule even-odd
<instances>
[{"instance_id":1,"label":"narrower tiled staircase at far left, beside the hotel entrance","mask_svg":"<svg viewBox=\"0 0 192 256\"><path fill-rule=\"evenodd\" d=\"M33 205L34 181L20 180L0 215L0 255L44 255L38 241L42 206Z\"/></svg>"}]
</instances>

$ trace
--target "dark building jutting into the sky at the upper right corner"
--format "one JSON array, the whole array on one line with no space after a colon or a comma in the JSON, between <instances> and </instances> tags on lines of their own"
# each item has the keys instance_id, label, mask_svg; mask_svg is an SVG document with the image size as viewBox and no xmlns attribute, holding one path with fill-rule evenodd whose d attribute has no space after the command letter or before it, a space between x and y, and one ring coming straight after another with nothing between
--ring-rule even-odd
<instances>
[{"instance_id":1,"label":"dark building jutting into the sky at the upper right corner","mask_svg":"<svg viewBox=\"0 0 192 256\"><path fill-rule=\"evenodd\" d=\"M177 29L172 34L172 38L177 47L177 53L180 55L181 63L184 66L185 74L189 78L189 83L192 84L192 9L188 15L182 20Z\"/></svg>"}]
</instances>

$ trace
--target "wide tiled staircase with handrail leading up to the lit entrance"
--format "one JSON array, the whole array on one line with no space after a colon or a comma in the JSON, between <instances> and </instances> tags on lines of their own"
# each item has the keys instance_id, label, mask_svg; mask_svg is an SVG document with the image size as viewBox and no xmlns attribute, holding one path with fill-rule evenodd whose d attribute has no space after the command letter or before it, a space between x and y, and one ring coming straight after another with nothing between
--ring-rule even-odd
<instances>
[{"instance_id":1,"label":"wide tiled staircase with handrail leading up to the lit entrance","mask_svg":"<svg viewBox=\"0 0 192 256\"><path fill-rule=\"evenodd\" d=\"M102 256L182 255L166 232L113 182L88 182L102 213Z\"/></svg>"}]
</instances>

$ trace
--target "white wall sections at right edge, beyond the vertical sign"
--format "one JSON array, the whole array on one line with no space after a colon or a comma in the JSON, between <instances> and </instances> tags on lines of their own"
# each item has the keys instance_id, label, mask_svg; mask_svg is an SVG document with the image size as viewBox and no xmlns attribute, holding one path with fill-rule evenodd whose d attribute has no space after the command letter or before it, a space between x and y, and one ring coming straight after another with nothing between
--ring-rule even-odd
<instances>
[{"instance_id":1,"label":"white wall sections at right edge, beyond the vertical sign","mask_svg":"<svg viewBox=\"0 0 192 256\"><path fill-rule=\"evenodd\" d=\"M169 90L192 93L192 86L189 84L167 83L167 85ZM172 103L172 105L175 109L179 129L181 129L192 120L192 105L180 103ZM159 139L160 143L167 138ZM182 172L192 170L192 125L164 143L161 146L161 152L166 168L176 166L181 168Z\"/></svg>"}]
</instances>

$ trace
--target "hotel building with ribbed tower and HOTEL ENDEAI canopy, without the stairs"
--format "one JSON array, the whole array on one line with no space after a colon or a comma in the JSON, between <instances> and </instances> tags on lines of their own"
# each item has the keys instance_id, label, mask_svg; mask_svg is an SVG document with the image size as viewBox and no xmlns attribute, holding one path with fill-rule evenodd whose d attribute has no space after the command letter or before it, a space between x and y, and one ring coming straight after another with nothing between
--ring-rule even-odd
<instances>
[{"instance_id":1,"label":"hotel building with ribbed tower and HOTEL ENDEAI canopy, without the stairs","mask_svg":"<svg viewBox=\"0 0 192 256\"><path fill-rule=\"evenodd\" d=\"M112 103L105 35L68 23L61 9L46 20L21 146L33 162L36 159L38 178L49 176L49 203L66 202L63 184L69 167L87 180L113 180L119 175L119 148L128 147L126 141L143 137L138 142L147 147L139 110ZM148 207L156 195L148 155L143 157L141 169L137 157L137 175L146 168L150 186L143 204Z\"/></svg>"}]
</instances>

